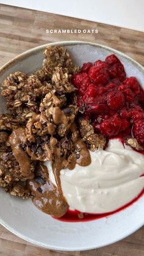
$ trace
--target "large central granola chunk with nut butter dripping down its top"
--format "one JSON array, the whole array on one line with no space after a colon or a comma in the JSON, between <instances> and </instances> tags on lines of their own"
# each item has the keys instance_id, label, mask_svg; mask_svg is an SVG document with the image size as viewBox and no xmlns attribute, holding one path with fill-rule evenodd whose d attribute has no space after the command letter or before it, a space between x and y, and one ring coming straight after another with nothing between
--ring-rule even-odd
<instances>
[{"instance_id":1,"label":"large central granola chunk with nut butter dripping down its top","mask_svg":"<svg viewBox=\"0 0 144 256\"><path fill-rule=\"evenodd\" d=\"M58 96L56 90L51 90L40 103L40 114L34 114L28 120L27 153L32 159L51 161L56 145L61 147L60 137L67 135L78 111L76 105L66 103L65 94Z\"/></svg>"}]
</instances>

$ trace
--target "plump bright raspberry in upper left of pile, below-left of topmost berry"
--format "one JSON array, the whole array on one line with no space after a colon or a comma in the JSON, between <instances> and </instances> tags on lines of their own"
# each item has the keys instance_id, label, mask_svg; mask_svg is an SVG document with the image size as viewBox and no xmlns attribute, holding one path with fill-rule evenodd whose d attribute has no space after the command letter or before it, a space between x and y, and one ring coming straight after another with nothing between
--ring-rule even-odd
<instances>
[{"instance_id":1,"label":"plump bright raspberry in upper left of pile, below-left of topmost berry","mask_svg":"<svg viewBox=\"0 0 144 256\"><path fill-rule=\"evenodd\" d=\"M107 68L92 67L88 72L90 79L95 84L107 84L109 80L109 70Z\"/></svg>"}]
</instances>

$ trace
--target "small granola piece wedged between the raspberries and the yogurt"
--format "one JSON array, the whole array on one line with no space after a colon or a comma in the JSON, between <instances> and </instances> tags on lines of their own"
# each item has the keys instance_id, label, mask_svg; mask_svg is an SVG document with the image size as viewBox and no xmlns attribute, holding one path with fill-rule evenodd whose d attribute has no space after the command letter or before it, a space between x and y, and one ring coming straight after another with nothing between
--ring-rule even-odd
<instances>
[{"instance_id":1,"label":"small granola piece wedged between the raspberries and the yogurt","mask_svg":"<svg viewBox=\"0 0 144 256\"><path fill-rule=\"evenodd\" d=\"M80 117L78 123L81 137L87 143L90 150L95 151L106 146L106 138L101 134L96 134L88 120Z\"/></svg>"}]
</instances>

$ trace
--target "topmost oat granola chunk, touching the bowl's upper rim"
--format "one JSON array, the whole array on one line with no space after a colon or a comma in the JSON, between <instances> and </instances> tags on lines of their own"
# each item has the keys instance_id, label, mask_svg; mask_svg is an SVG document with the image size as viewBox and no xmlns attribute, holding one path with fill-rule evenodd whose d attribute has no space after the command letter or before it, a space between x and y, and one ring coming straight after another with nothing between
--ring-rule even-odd
<instances>
[{"instance_id":1,"label":"topmost oat granola chunk, touching the bowl's upper rim","mask_svg":"<svg viewBox=\"0 0 144 256\"><path fill-rule=\"evenodd\" d=\"M43 67L52 69L56 67L68 68L70 74L78 71L78 67L73 64L67 49L59 46L47 46L44 54L46 57L43 60Z\"/></svg>"}]
</instances>

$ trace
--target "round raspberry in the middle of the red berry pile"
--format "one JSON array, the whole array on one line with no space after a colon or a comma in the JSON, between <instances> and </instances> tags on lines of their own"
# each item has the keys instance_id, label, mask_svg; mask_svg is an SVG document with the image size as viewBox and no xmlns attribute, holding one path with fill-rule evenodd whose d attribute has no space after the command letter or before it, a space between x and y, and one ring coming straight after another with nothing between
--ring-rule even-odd
<instances>
[{"instance_id":1,"label":"round raspberry in the middle of the red berry pile","mask_svg":"<svg viewBox=\"0 0 144 256\"><path fill-rule=\"evenodd\" d=\"M107 93L107 105L110 109L117 110L124 105L124 95L122 92L118 92L118 90L112 90Z\"/></svg>"}]
</instances>

